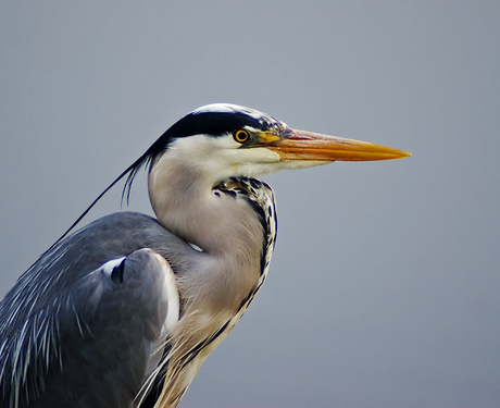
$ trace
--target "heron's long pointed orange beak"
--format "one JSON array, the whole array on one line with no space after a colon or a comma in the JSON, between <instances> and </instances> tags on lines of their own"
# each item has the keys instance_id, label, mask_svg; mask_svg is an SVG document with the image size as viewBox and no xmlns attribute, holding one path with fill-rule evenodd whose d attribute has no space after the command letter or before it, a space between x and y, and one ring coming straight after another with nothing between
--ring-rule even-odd
<instances>
[{"instance_id":1,"label":"heron's long pointed orange beak","mask_svg":"<svg viewBox=\"0 0 500 408\"><path fill-rule=\"evenodd\" d=\"M264 140L262 140L264 141ZM392 160L411 156L390 147L292 129L285 137L266 140L266 148L276 152L282 161L371 161Z\"/></svg>"}]
</instances>

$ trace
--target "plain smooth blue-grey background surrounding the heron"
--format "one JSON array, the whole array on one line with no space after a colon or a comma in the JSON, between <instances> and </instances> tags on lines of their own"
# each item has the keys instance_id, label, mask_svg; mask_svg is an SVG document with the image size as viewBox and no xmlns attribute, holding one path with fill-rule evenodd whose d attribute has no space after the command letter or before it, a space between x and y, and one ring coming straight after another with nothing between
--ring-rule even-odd
<instances>
[{"instance_id":1,"label":"plain smooth blue-grey background surrounding the heron","mask_svg":"<svg viewBox=\"0 0 500 408\"><path fill-rule=\"evenodd\" d=\"M500 406L499 22L498 1L1 1L1 295L177 119L240 103L413 157L266 177L268 281L180 406ZM117 210L120 188L86 222Z\"/></svg>"}]
</instances>

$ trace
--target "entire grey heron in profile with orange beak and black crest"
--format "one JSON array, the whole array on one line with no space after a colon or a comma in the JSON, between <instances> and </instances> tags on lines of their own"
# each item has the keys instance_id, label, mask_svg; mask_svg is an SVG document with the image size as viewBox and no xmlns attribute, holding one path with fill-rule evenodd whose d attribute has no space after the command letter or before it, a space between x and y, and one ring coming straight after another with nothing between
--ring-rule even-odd
<instances>
[{"instance_id":1,"label":"entire grey heron in profile with orange beak and black crest","mask_svg":"<svg viewBox=\"0 0 500 408\"><path fill-rule=\"evenodd\" d=\"M75 223L1 301L0 404L176 407L267 275L276 207L258 177L408 156L236 104L190 112L102 193L126 177L128 197L146 168L155 218Z\"/></svg>"}]
</instances>

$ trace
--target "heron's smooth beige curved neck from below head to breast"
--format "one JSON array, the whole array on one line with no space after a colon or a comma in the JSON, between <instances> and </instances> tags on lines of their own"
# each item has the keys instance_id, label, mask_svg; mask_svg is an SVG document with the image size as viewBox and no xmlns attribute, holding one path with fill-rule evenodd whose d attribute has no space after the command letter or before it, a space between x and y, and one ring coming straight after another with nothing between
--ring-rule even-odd
<instances>
[{"instance_id":1,"label":"heron's smooth beige curved neck from below head to breast","mask_svg":"<svg viewBox=\"0 0 500 408\"><path fill-rule=\"evenodd\" d=\"M196 163L165 156L149 175L149 195L158 220L207 254L209 264L203 268L212 277L220 274L218 280L211 279L220 285L209 288L212 296L227 297L227 290L238 290L235 300L247 296L261 273L264 231L258 214L242 197L213 189L217 180L211 180Z\"/></svg>"}]
</instances>

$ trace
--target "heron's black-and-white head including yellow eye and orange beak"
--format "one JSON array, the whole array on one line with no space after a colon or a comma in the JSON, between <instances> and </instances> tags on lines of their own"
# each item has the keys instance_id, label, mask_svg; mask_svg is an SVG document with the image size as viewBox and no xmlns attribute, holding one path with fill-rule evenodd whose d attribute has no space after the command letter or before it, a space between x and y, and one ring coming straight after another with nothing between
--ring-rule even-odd
<instances>
[{"instance_id":1,"label":"heron's black-and-white head including yellow eye and orange beak","mask_svg":"<svg viewBox=\"0 0 500 408\"><path fill-rule=\"evenodd\" d=\"M183 171L216 183L230 176L255 176L337 160L408 156L385 146L292 129L250 108L214 103L192 111L170 127L139 159L136 169L149 162L150 172L160 172L175 161Z\"/></svg>"}]
</instances>

